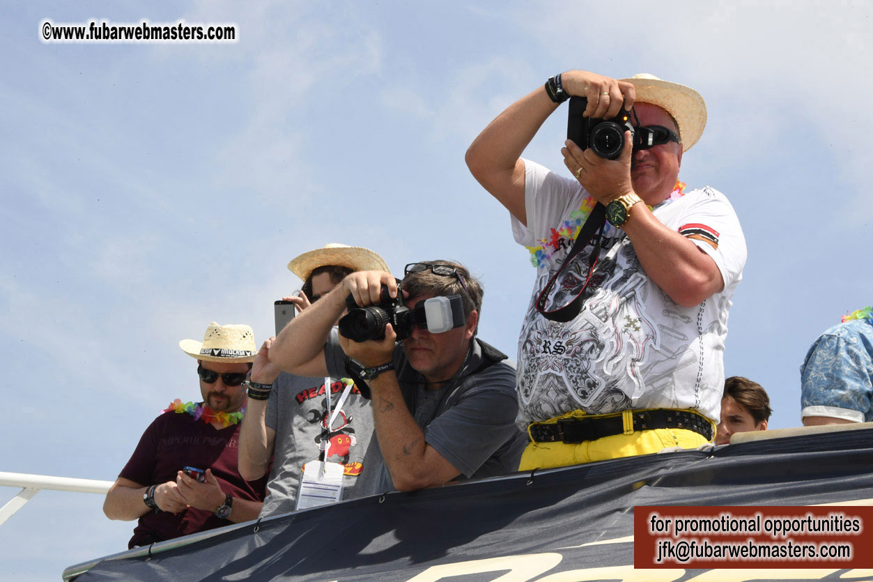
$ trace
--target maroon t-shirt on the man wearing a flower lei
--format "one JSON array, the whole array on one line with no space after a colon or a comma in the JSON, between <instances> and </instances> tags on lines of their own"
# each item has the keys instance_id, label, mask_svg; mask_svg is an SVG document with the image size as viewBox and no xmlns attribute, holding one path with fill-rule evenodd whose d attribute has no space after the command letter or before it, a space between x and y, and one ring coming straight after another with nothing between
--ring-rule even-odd
<instances>
[{"instance_id":1,"label":"maroon t-shirt on the man wearing a flower lei","mask_svg":"<svg viewBox=\"0 0 873 582\"><path fill-rule=\"evenodd\" d=\"M175 482L177 471L186 466L203 471L210 468L224 493L238 499L264 501L270 471L254 482L246 482L239 475L239 428L237 424L217 429L203 420L195 420L187 412L164 412L142 433L140 444L119 476L144 486ZM224 525L230 522L204 509L192 507L178 514L149 511L140 517L127 547Z\"/></svg>"}]
</instances>

